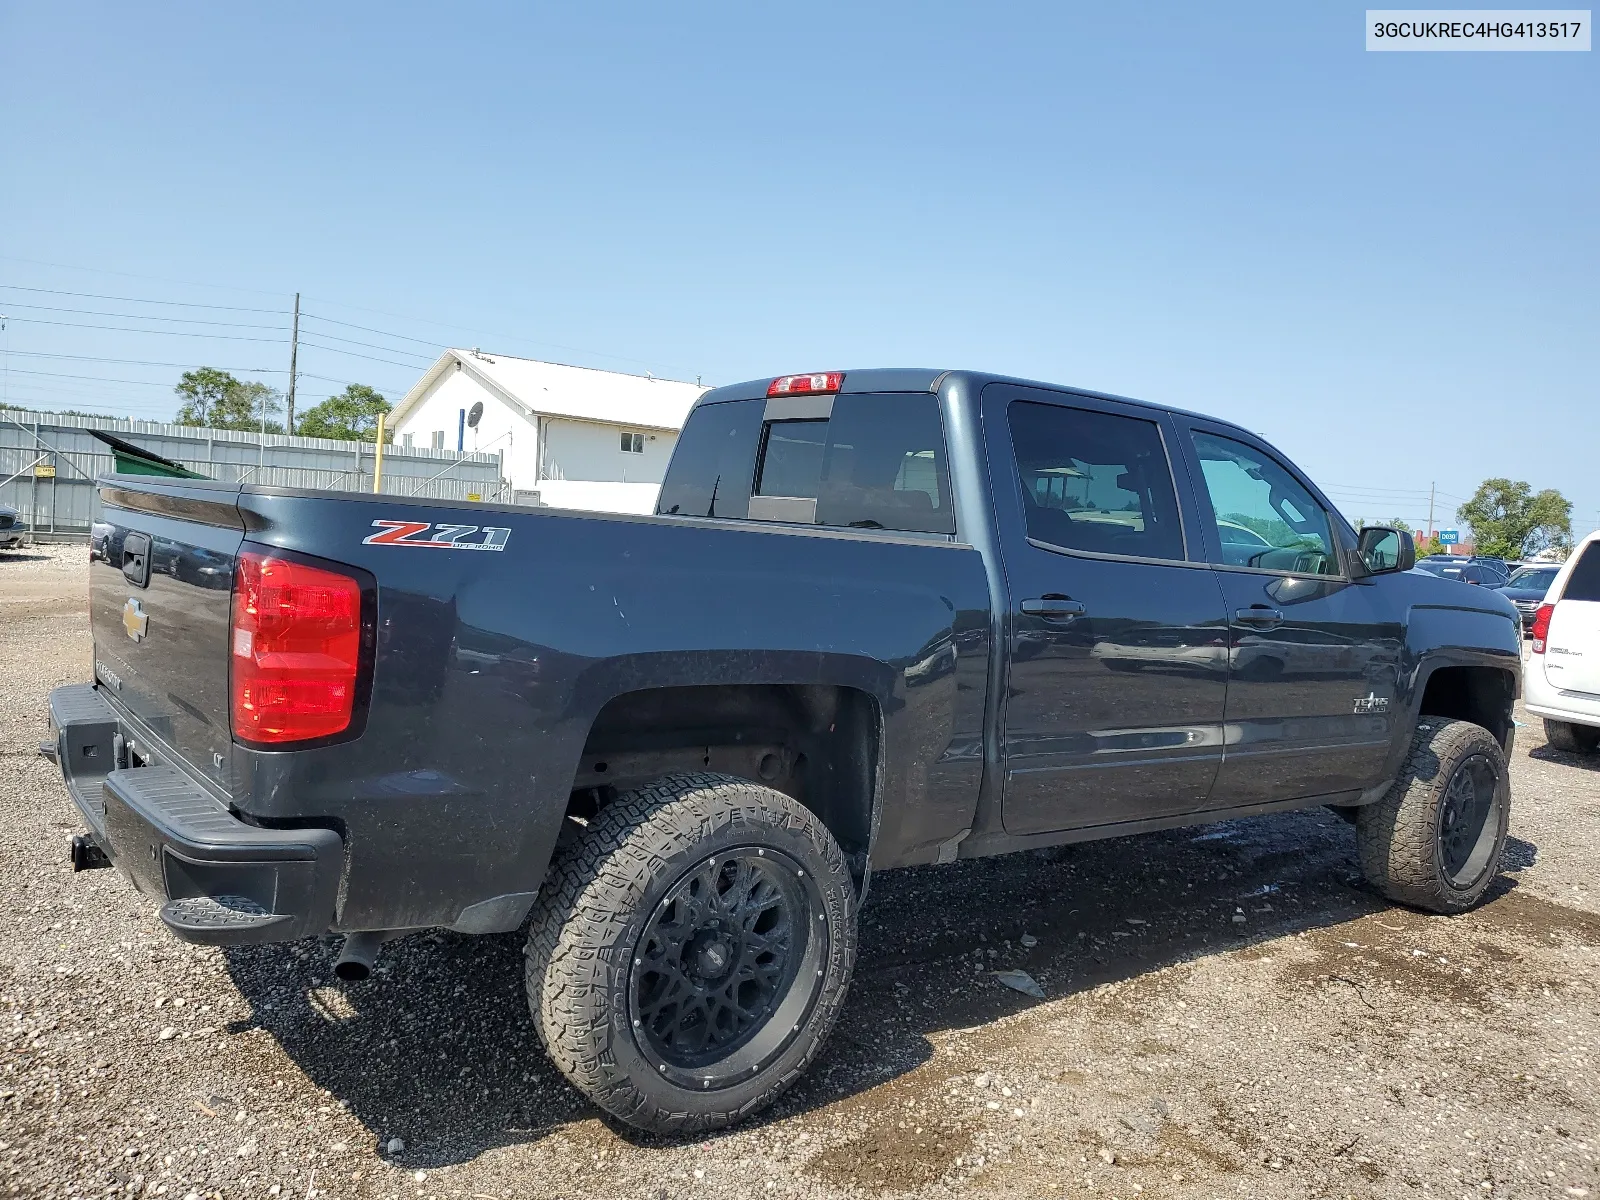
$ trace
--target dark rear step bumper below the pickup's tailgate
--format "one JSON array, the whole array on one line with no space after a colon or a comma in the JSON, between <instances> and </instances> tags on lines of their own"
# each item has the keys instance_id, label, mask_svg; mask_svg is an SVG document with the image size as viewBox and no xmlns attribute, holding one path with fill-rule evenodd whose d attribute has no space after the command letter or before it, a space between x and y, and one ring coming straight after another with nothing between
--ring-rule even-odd
<instances>
[{"instance_id":1,"label":"dark rear step bumper below the pickup's tailgate","mask_svg":"<svg viewBox=\"0 0 1600 1200\"><path fill-rule=\"evenodd\" d=\"M262 829L171 765L117 762L125 731L91 685L50 694L54 758L96 845L179 938L277 942L333 923L344 843L331 829ZM48 749L46 749L48 752Z\"/></svg>"}]
</instances>

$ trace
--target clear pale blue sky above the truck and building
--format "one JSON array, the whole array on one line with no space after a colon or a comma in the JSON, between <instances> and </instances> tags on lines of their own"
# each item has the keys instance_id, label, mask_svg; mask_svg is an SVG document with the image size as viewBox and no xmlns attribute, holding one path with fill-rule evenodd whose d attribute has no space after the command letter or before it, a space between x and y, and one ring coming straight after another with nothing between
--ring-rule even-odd
<instances>
[{"instance_id":1,"label":"clear pale blue sky above the truck and building","mask_svg":"<svg viewBox=\"0 0 1600 1200\"><path fill-rule=\"evenodd\" d=\"M1592 528L1595 56L1371 54L1363 11L0 5L5 387L166 418L176 368L88 358L282 386L278 330L101 314L282 326L130 301L298 290L346 350L302 350L302 403L445 342L976 366L1240 421L1350 517L1421 523L1437 480L1446 525L1510 475Z\"/></svg>"}]
</instances>

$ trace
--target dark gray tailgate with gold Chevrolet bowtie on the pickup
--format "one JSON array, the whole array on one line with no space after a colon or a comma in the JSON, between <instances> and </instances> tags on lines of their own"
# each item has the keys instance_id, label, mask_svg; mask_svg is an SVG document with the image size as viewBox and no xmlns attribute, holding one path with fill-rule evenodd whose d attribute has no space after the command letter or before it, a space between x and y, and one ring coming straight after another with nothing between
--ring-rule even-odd
<instances>
[{"instance_id":1,"label":"dark gray tailgate with gold Chevrolet bowtie on the pickup","mask_svg":"<svg viewBox=\"0 0 1600 1200\"><path fill-rule=\"evenodd\" d=\"M163 482L165 483L165 482ZM229 610L243 541L238 488L102 486L91 538L90 622L102 693L227 790Z\"/></svg>"}]
</instances>

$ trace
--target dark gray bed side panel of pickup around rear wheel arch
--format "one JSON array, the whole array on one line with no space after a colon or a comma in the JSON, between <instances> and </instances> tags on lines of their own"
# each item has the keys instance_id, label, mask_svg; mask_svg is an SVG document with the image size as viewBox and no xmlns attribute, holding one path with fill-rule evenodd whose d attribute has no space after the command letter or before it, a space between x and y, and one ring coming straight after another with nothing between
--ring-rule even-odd
<instances>
[{"instance_id":1,"label":"dark gray bed side panel of pickup around rear wheel arch","mask_svg":"<svg viewBox=\"0 0 1600 1200\"><path fill-rule=\"evenodd\" d=\"M235 752L253 816L344 834L339 928L451 925L534 891L589 726L642 688L859 688L882 714L874 861L933 858L970 824L989 627L970 547L392 498L246 493L240 507L248 541L379 582L362 736ZM386 518L507 534L499 552L366 544Z\"/></svg>"}]
</instances>

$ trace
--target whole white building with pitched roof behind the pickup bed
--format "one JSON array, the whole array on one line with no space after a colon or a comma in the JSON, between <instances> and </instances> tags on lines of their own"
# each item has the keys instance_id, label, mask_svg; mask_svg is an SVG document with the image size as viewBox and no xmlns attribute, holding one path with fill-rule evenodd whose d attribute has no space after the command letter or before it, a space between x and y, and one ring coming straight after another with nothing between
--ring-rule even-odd
<instances>
[{"instance_id":1,"label":"whole white building with pitched roof behind the pickup bed","mask_svg":"<svg viewBox=\"0 0 1600 1200\"><path fill-rule=\"evenodd\" d=\"M707 389L482 350L445 350L389 416L397 445L499 453L558 509L653 512L690 406ZM474 405L483 405L467 427Z\"/></svg>"}]
</instances>

